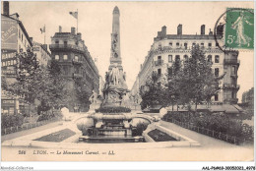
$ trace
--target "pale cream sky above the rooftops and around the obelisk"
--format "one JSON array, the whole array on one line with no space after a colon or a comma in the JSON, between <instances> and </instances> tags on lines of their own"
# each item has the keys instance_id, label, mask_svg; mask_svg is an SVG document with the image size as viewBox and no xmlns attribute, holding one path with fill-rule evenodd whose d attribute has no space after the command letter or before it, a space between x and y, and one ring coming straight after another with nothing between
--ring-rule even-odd
<instances>
[{"instance_id":1,"label":"pale cream sky above the rooftops and around the obelisk","mask_svg":"<svg viewBox=\"0 0 256 171\"><path fill-rule=\"evenodd\" d=\"M253 8L253 2L10 2L10 14L18 13L30 36L43 43L39 28L46 26L46 44L58 31L70 31L77 21L69 12L79 12L78 29L82 33L93 58L97 58L99 75L104 78L110 59L110 33L112 11L120 10L120 43L123 68L128 88L134 84L154 37L162 26L167 34L176 33L182 24L183 34L200 33L206 25L206 33L214 29L218 18L227 7ZM238 98L253 86L253 51L239 51L241 61L238 70Z\"/></svg>"}]
</instances>

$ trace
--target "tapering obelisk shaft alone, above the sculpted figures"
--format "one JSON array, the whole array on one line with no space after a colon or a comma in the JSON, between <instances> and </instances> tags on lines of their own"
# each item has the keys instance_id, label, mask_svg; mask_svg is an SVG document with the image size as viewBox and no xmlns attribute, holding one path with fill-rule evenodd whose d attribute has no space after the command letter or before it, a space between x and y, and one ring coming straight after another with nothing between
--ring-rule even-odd
<instances>
[{"instance_id":1,"label":"tapering obelisk shaft alone, above the sculpted figures","mask_svg":"<svg viewBox=\"0 0 256 171\"><path fill-rule=\"evenodd\" d=\"M117 64L119 70L123 70L121 51L120 51L120 12L118 7L115 6L113 10L113 23L111 33L111 53L110 53L110 66L109 71L112 70L114 64Z\"/></svg>"}]
</instances>

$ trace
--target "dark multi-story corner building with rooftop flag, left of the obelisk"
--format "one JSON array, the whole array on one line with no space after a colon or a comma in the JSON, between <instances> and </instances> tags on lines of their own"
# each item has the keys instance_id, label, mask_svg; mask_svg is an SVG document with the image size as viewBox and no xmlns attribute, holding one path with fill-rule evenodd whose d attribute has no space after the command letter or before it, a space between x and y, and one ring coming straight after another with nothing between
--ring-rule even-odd
<instances>
[{"instance_id":1,"label":"dark multi-story corner building with rooftop flag, left of the obelisk","mask_svg":"<svg viewBox=\"0 0 256 171\"><path fill-rule=\"evenodd\" d=\"M84 79L86 84L84 87L88 94L92 94L93 90L98 93L99 75L93 60L84 40L82 34L76 33L76 28L71 28L71 32L62 32L59 27L59 32L55 32L51 37L51 58L58 61L62 67L65 78L70 83L70 90L74 90L74 79ZM72 93L72 94L75 94ZM83 101L77 101L71 97L71 103L68 108L71 111L85 111L88 110L89 104L85 108L81 108ZM80 109L79 109L80 108Z\"/></svg>"}]
</instances>

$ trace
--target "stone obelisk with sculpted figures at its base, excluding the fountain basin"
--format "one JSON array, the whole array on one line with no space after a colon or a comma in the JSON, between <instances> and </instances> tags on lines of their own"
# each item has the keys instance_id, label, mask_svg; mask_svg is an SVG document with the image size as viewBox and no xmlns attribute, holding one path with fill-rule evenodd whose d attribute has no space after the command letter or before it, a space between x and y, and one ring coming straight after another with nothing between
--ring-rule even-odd
<instances>
[{"instance_id":1,"label":"stone obelisk with sculpted figures at its base, excluding the fountain basin","mask_svg":"<svg viewBox=\"0 0 256 171\"><path fill-rule=\"evenodd\" d=\"M108 72L105 74L103 88L103 106L124 106L124 96L129 92L126 85L126 74L123 72L122 67L119 17L119 9L115 7L111 33L110 65Z\"/></svg>"}]
</instances>

